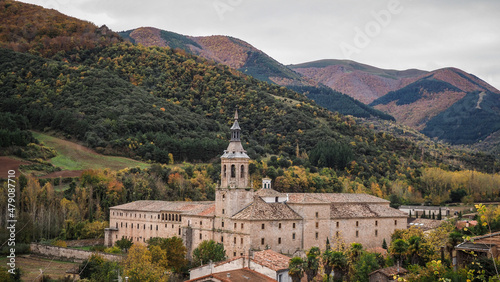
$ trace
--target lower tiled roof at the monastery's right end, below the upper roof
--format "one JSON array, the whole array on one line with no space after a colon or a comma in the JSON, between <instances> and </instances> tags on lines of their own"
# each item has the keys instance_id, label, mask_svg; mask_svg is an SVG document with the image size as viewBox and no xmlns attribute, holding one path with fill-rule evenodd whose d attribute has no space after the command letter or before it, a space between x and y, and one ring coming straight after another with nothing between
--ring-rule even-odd
<instances>
[{"instance_id":1,"label":"lower tiled roof at the monastery's right end, below the upper roof","mask_svg":"<svg viewBox=\"0 0 500 282\"><path fill-rule=\"evenodd\" d=\"M379 204L331 204L331 218L407 217L406 213Z\"/></svg>"}]
</instances>

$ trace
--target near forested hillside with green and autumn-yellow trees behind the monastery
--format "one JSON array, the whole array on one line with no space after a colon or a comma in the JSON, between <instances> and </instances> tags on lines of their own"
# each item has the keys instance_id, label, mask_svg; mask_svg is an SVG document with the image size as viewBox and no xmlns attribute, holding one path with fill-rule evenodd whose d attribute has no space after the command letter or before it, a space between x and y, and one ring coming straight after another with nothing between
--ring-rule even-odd
<instances>
[{"instance_id":1,"label":"near forested hillside with green and autumn-yellow trees behind the monastery","mask_svg":"<svg viewBox=\"0 0 500 282\"><path fill-rule=\"evenodd\" d=\"M5 2L2 15L7 17L1 20L13 21L17 14L10 7L23 5L32 9ZM87 34L81 29L67 31L63 25L53 27L73 39ZM0 49L0 111L9 127L0 128L0 141L3 148L10 148L5 152L36 142L28 131L36 129L101 153L156 164L145 170L87 171L79 179L63 180L64 185L57 180L64 195L54 192L55 180L39 185L36 179L24 179L23 189L40 199L33 210L22 204L25 216L52 222L51 227L33 223L39 233L27 234L26 241L53 238L68 220L82 224L106 220L109 206L127 201L213 199L218 156L228 144L235 110L244 147L253 159L255 188L268 176L279 191L370 193L390 198L394 205L456 201L451 195L462 191L468 201L499 197L497 176L486 174L498 171L491 156L378 131L370 121L358 123L309 99L325 98L326 92L302 87L297 91L306 94L298 93L181 49L115 42L111 31L95 33L89 45L68 48L51 45L50 36L42 31L37 27L34 38L40 40L26 49L16 49L12 44L16 37L2 37L7 48ZM489 97L483 98L485 104L479 106L490 103ZM343 100L336 102L339 111L346 107ZM380 114L360 104L353 110L364 116ZM170 166L163 165L167 163ZM482 173L461 173L466 169ZM471 175L469 182L464 175ZM488 183L496 188L490 189ZM50 197L42 197L45 194ZM60 216L50 219L41 210ZM84 236L81 230L64 232L70 238Z\"/></svg>"}]
</instances>

